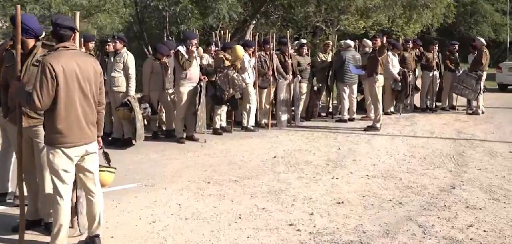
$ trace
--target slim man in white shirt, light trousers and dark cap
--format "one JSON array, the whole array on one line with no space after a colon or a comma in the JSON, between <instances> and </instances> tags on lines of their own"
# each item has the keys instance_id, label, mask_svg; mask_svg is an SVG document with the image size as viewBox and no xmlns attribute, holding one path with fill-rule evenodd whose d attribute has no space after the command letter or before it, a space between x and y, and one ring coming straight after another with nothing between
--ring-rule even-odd
<instances>
[{"instance_id":1,"label":"slim man in white shirt, light trousers and dark cap","mask_svg":"<svg viewBox=\"0 0 512 244\"><path fill-rule=\"evenodd\" d=\"M242 130L246 132L255 132L258 131L258 129L254 128L256 106L258 106L256 91L254 90L254 65L256 64L256 59L253 57L253 53L256 44L252 40L245 40L242 47L245 50L245 54L239 73L245 79L246 83L242 100Z\"/></svg>"}]
</instances>

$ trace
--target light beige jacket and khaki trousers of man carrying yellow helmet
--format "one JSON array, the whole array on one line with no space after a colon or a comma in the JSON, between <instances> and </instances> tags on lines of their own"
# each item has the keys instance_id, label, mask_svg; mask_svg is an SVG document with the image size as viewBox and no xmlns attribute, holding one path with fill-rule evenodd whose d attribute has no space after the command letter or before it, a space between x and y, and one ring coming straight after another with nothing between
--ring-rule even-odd
<instances>
[{"instance_id":1,"label":"light beige jacket and khaki trousers of man carrying yellow helmet","mask_svg":"<svg viewBox=\"0 0 512 244\"><path fill-rule=\"evenodd\" d=\"M109 59L105 92L109 96L114 117L112 137L133 138L132 122L120 119L116 113L116 108L127 96L135 96L135 58L126 48Z\"/></svg>"}]
</instances>

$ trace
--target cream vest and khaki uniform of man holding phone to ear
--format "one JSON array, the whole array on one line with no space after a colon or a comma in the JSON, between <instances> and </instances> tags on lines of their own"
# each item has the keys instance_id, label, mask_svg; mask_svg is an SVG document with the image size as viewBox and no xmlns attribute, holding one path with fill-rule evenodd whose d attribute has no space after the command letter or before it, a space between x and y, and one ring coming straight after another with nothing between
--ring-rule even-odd
<instances>
[{"instance_id":1,"label":"cream vest and khaki uniform of man holding phone to ear","mask_svg":"<svg viewBox=\"0 0 512 244\"><path fill-rule=\"evenodd\" d=\"M185 137L183 128L186 125L186 135L194 135L197 116L197 84L201 77L199 56L188 56L184 46L178 47L175 53L176 68L176 136Z\"/></svg>"}]
</instances>

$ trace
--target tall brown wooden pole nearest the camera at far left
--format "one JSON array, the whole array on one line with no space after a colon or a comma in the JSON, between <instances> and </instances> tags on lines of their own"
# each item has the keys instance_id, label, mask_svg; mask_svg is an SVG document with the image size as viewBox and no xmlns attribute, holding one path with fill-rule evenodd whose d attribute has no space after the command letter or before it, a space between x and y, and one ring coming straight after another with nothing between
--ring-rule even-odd
<instances>
[{"instance_id":1,"label":"tall brown wooden pole nearest the camera at far left","mask_svg":"<svg viewBox=\"0 0 512 244\"><path fill-rule=\"evenodd\" d=\"M16 75L18 82L21 81L22 74L22 7L16 5ZM18 178L18 193L19 193L19 232L18 232L18 244L25 242L25 189L23 185L23 116L22 106L17 104L16 117L17 123L17 141L16 141L16 165L17 178Z\"/></svg>"}]
</instances>

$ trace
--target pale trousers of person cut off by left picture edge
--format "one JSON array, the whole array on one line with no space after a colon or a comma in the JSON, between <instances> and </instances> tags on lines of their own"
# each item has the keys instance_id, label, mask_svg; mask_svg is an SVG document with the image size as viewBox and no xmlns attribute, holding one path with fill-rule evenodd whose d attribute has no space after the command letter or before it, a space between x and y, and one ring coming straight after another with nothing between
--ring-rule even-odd
<instances>
[{"instance_id":1,"label":"pale trousers of person cut off by left picture edge","mask_svg":"<svg viewBox=\"0 0 512 244\"><path fill-rule=\"evenodd\" d=\"M12 164L15 160L16 126L8 122L0 112L0 193L11 192Z\"/></svg>"}]
</instances>

